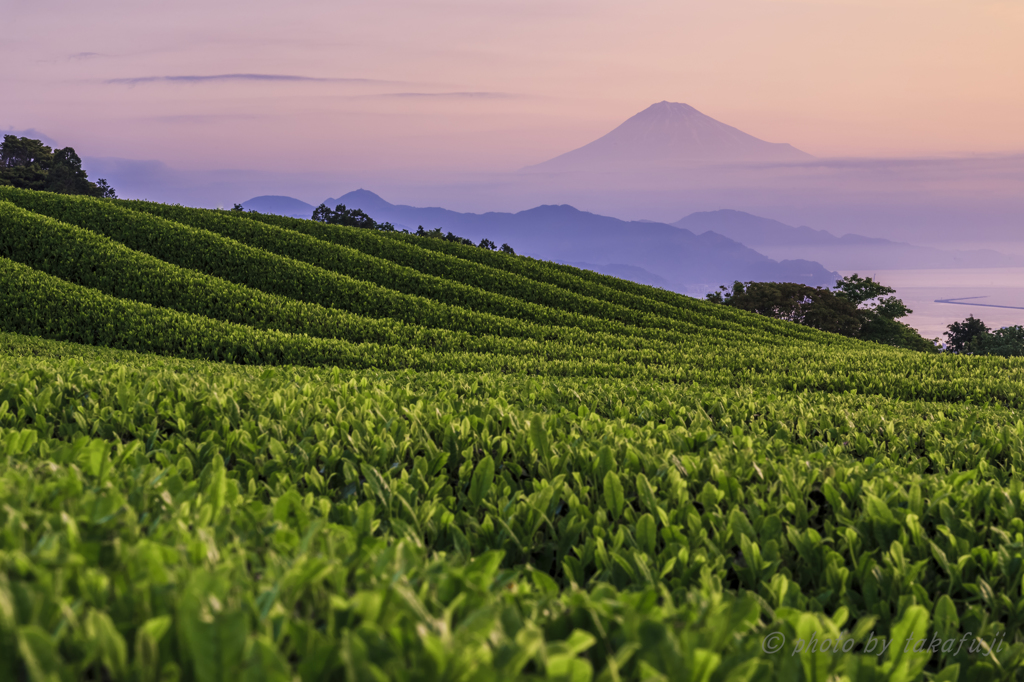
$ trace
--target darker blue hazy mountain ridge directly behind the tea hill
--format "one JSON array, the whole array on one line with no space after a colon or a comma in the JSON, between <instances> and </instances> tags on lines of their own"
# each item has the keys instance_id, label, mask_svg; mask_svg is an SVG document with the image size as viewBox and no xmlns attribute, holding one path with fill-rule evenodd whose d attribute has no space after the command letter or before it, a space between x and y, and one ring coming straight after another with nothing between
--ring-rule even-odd
<instances>
[{"instance_id":1,"label":"darker blue hazy mountain ridge directly behind the tea hill","mask_svg":"<svg viewBox=\"0 0 1024 682\"><path fill-rule=\"evenodd\" d=\"M442 208L390 204L358 189L328 206L361 209L375 220L415 230L440 227L478 243L507 243L516 253L564 263L592 263L593 269L628 265L663 278L667 288L702 293L734 280L831 285L837 279L819 263L772 260L742 244L709 232L693 232L656 222L628 222L580 211L571 206L539 206L519 213L458 213ZM628 276L627 270L620 270Z\"/></svg>"}]
</instances>

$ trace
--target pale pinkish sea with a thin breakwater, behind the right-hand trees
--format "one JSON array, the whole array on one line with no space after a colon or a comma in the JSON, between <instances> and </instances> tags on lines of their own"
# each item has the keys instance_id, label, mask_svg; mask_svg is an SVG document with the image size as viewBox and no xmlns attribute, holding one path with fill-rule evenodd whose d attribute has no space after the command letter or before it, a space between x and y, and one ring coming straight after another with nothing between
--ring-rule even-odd
<instances>
[{"instance_id":1,"label":"pale pinkish sea with a thin breakwater, behind the right-hand trees","mask_svg":"<svg viewBox=\"0 0 1024 682\"><path fill-rule=\"evenodd\" d=\"M928 339L939 337L944 341L942 333L950 323L972 314L993 329L1024 325L1024 267L858 270L858 273L893 287L896 297L913 310L903 322ZM949 299L958 302L936 302Z\"/></svg>"}]
</instances>

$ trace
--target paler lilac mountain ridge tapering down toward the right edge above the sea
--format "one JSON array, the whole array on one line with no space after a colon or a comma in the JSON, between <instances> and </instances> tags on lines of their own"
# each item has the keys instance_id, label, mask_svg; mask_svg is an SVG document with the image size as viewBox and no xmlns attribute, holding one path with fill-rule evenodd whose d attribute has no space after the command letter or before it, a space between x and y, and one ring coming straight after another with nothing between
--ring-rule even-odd
<instances>
[{"instance_id":1,"label":"paler lilac mountain ridge tapering down toward the right edge above the sea","mask_svg":"<svg viewBox=\"0 0 1024 682\"><path fill-rule=\"evenodd\" d=\"M692 213L672 223L695 233L714 232L751 247L770 258L807 258L837 270L1015 267L1024 259L987 249L944 251L905 242L794 227L742 211Z\"/></svg>"}]
</instances>

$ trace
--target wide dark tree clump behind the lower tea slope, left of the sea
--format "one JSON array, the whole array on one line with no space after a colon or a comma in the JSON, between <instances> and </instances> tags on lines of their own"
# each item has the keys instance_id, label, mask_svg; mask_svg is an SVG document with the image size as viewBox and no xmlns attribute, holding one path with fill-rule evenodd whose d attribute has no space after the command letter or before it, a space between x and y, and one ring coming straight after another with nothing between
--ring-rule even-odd
<instances>
[{"instance_id":1,"label":"wide dark tree clump behind the lower tea slope, left of the sea","mask_svg":"<svg viewBox=\"0 0 1024 682\"><path fill-rule=\"evenodd\" d=\"M707 298L823 332L934 352L935 343L899 322L913 310L890 295L894 293L892 287L854 273L837 280L834 289L791 282L735 282L731 291L719 287Z\"/></svg>"}]
</instances>

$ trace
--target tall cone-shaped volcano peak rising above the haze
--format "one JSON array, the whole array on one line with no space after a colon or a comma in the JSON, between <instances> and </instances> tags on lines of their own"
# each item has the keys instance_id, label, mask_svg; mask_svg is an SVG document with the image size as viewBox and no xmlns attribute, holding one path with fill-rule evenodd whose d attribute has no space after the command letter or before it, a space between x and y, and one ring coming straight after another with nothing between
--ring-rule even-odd
<instances>
[{"instance_id":1,"label":"tall cone-shaped volcano peak rising above the haze","mask_svg":"<svg viewBox=\"0 0 1024 682\"><path fill-rule=\"evenodd\" d=\"M530 171L622 171L651 166L807 161L809 154L766 142L701 114L689 104L662 101L603 137Z\"/></svg>"}]
</instances>

